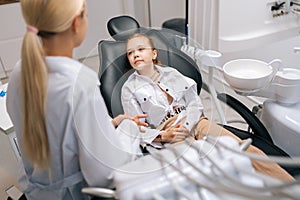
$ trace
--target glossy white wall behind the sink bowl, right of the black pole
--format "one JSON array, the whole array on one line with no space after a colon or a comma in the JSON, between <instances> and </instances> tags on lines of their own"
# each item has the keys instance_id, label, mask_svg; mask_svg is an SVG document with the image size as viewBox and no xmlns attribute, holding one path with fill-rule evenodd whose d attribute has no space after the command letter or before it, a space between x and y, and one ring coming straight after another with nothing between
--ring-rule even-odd
<instances>
[{"instance_id":1,"label":"glossy white wall behind the sink bowl, right of the black pole","mask_svg":"<svg viewBox=\"0 0 300 200\"><path fill-rule=\"evenodd\" d=\"M300 69L299 54L293 51L300 46L300 16L290 12L273 17L275 0L190 2L191 37L205 49L220 51L221 64L237 58L279 58L285 67Z\"/></svg>"}]
</instances>

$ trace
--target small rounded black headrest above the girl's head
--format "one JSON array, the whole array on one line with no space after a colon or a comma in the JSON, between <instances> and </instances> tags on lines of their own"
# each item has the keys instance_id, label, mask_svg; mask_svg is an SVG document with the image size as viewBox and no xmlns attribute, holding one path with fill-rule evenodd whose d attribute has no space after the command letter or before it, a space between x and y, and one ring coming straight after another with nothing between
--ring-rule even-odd
<instances>
[{"instance_id":1,"label":"small rounded black headrest above the girl's head","mask_svg":"<svg viewBox=\"0 0 300 200\"><path fill-rule=\"evenodd\" d=\"M140 24L131 16L121 15L108 20L107 30L115 40L126 41L130 35L140 30Z\"/></svg>"}]
</instances>

